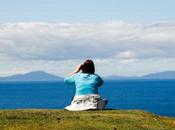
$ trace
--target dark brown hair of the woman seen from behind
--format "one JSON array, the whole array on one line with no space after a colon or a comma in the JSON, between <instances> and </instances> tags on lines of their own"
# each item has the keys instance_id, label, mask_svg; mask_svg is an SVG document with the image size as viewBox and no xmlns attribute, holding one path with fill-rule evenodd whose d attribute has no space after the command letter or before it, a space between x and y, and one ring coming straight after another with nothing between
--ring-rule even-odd
<instances>
[{"instance_id":1,"label":"dark brown hair of the woman seen from behind","mask_svg":"<svg viewBox=\"0 0 175 130\"><path fill-rule=\"evenodd\" d=\"M95 72L95 66L94 66L94 62L90 59L86 60L83 64L82 64L82 72L83 73L90 73L90 74L94 74Z\"/></svg>"}]
</instances>

